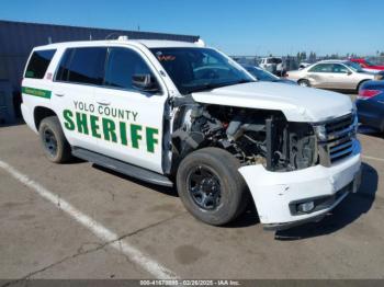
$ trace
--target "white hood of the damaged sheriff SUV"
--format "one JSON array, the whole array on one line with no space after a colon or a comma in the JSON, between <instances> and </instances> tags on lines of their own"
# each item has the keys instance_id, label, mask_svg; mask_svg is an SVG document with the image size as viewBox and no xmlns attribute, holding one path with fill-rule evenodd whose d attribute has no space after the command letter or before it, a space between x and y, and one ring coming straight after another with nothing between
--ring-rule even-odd
<instances>
[{"instance_id":1,"label":"white hood of the damaged sheriff SUV","mask_svg":"<svg viewBox=\"0 0 384 287\"><path fill-rule=\"evenodd\" d=\"M350 113L348 95L276 82L250 82L192 93L206 104L282 111L290 122L323 122Z\"/></svg>"}]
</instances>

